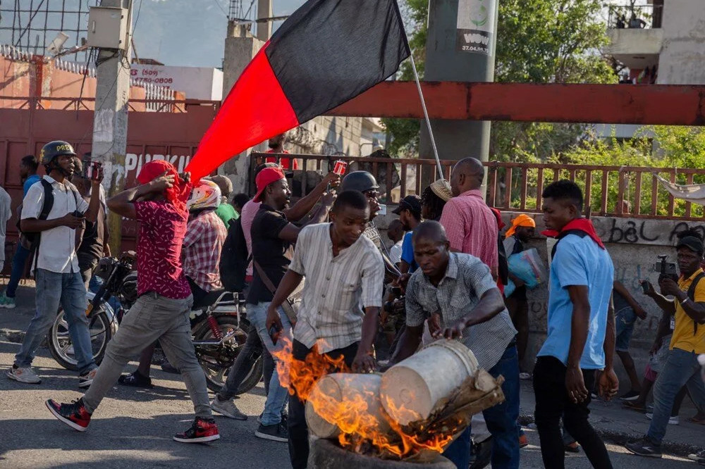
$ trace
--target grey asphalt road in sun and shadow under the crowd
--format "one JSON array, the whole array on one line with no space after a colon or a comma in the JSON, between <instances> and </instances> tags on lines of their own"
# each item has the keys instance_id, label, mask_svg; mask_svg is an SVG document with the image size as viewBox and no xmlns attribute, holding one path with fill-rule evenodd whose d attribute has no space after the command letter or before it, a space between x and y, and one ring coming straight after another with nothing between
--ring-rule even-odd
<instances>
[{"instance_id":1,"label":"grey asphalt road in sun and shadow under the crowd","mask_svg":"<svg viewBox=\"0 0 705 469\"><path fill-rule=\"evenodd\" d=\"M0 342L0 468L288 468L286 444L254 436L257 415L264 407L264 389L238 399L250 416L240 422L216 416L221 439L211 445L180 444L171 437L192 422L192 406L178 375L153 371L154 389L117 386L94 414L90 429L75 432L47 411L46 399L78 399L78 378L60 368L47 349L35 360L42 384L8 380L18 344ZM130 370L133 367L130 367ZM156 380L154 380L156 378ZM522 468L541 468L538 435L527 430L529 442L522 449ZM608 445L613 465L620 469L696 469L697 464L668 456L661 460L627 454ZM566 468L590 468L583 454L568 456Z\"/></svg>"}]
</instances>

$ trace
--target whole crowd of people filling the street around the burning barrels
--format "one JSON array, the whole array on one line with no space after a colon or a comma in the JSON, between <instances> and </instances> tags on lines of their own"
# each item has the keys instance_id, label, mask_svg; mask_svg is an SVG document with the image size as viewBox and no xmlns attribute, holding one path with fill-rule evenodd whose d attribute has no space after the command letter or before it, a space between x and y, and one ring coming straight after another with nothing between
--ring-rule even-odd
<instances>
[{"instance_id":1,"label":"whole crowd of people filling the street around the burning barrels","mask_svg":"<svg viewBox=\"0 0 705 469\"><path fill-rule=\"evenodd\" d=\"M271 149L283 153L278 137ZM44 177L37 175L39 164ZM630 377L623 396L627 406L644 408L651 384L654 388L649 432L627 449L661 456L666 425L683 389L702 420L705 387L697 355L705 354L705 282L700 282L705 274L704 244L697 232L686 232L678 241L680 277L661 277L661 293L645 284L646 296L663 310L654 344L663 361L650 363L641 383L628 349L644 308L613 278L611 257L581 215L580 188L568 180L548 185L541 194L544 235L556 239L549 253L548 334L533 370L521 370L528 337L527 287L507 258L527 249L536 223L529 215L517 215L501 234L501 216L486 205L481 192L485 174L480 161L462 159L449 181L437 180L420 196L403 197L393 211L398 219L388 227L390 249L374 221L380 206L373 175L355 171L341 178L330 173L290 205L289 166L297 168L296 161L287 160L285 167L276 159L259 165L252 175L257 192L250 199L233 195L226 177L191 181L171 163L150 161L135 187L106 199L102 174L88 176L66 142L44 146L39 161L23 158L22 242L0 306L14 306L29 259L37 311L8 377L41 382L32 359L61 306L78 361L78 386L86 391L73 403L49 399L46 404L56 418L79 431L87 430L116 382L152 386L149 368L157 341L166 356L162 367L183 376L194 405L195 420L174 436L178 442L219 439L214 413L247 419L233 397L262 356L266 402L255 436L287 442L295 469L307 467L309 432L305 400L290 394L278 374L284 369L276 366L283 343L292 344L295 360L342 358L356 373L391 366L436 339L457 339L467 346L482 368L503 376L505 401L476 415L446 449L444 456L462 469L482 467L485 456L493 468L519 467L520 448L527 444L517 422L520 379L533 380L546 468L563 468L565 451L577 444L595 468L611 468L588 415L594 393L609 400L618 392L615 352ZM3 192L0 237L10 218L9 196ZM86 294L99 259L111 255L108 212L139 223L139 296L97 365ZM252 329L223 388L209 399L190 338L190 312L223 288L219 269L231 236L241 237L247 249L241 262L245 289L239 293L246 299ZM505 296L510 283L513 290ZM384 361L376 341L380 331L389 349ZM122 375L137 356L138 368ZM705 461L705 454L696 456Z\"/></svg>"}]
</instances>

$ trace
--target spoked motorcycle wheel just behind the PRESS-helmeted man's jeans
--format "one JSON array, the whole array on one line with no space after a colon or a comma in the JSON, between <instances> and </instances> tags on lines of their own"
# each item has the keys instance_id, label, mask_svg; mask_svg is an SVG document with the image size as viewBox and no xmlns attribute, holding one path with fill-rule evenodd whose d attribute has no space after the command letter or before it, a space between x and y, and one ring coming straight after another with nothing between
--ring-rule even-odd
<instances>
[{"instance_id":1,"label":"spoked motorcycle wheel just behind the PRESS-helmeted man's jeans","mask_svg":"<svg viewBox=\"0 0 705 469\"><path fill-rule=\"evenodd\" d=\"M96 364L103 360L108 342L113 337L113 327L105 311L100 311L91 316L88 323L91 348ZM78 371L78 360L73 352L71 337L68 335L68 322L63 308L59 309L54 323L47 334L49 351L59 365L67 370Z\"/></svg>"}]
</instances>

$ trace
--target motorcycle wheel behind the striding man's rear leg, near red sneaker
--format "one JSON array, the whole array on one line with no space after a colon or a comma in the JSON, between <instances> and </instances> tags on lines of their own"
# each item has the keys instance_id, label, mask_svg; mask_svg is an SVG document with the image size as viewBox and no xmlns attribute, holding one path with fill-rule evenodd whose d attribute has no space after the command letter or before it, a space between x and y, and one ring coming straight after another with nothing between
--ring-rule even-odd
<instances>
[{"instance_id":1,"label":"motorcycle wheel behind the striding man's rear leg, near red sneaker","mask_svg":"<svg viewBox=\"0 0 705 469\"><path fill-rule=\"evenodd\" d=\"M250 332L250 323L245 319L240 320L239 327L238 318L232 315L219 315L216 316L216 320L221 334L228 334L231 330L236 330L236 332L235 337L229 343L226 342L219 346L196 347L196 357L206 375L206 384L208 389L213 392L219 392L228 379L228 373L247 341L247 334L257 333ZM197 326L193 337L196 341L215 339L207 321L203 321ZM259 357L238 387L237 394L243 394L257 386L257 383L262 380L262 373L262 357Z\"/></svg>"}]
</instances>

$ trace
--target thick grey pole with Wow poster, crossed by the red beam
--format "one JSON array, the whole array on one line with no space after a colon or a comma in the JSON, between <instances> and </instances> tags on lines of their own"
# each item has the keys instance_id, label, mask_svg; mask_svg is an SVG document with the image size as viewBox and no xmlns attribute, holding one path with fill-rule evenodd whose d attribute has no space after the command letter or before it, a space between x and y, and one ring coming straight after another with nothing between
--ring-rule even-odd
<instances>
[{"instance_id":1,"label":"thick grey pole with Wow poster, crossed by the red beam","mask_svg":"<svg viewBox=\"0 0 705 469\"><path fill-rule=\"evenodd\" d=\"M424 81L492 82L500 0L431 0ZM441 159L487 161L489 121L431 120ZM433 158L426 125L422 158ZM430 178L430 175L429 175ZM424 177L424 187L429 181Z\"/></svg>"}]
</instances>

